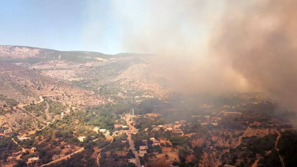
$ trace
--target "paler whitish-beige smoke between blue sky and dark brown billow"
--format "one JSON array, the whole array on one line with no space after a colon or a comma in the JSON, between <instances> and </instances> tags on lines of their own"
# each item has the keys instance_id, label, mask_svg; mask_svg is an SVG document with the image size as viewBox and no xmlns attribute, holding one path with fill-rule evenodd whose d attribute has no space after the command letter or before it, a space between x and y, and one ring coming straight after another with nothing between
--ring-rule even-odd
<instances>
[{"instance_id":1,"label":"paler whitish-beige smoke between blue sky and dark brown billow","mask_svg":"<svg viewBox=\"0 0 297 167\"><path fill-rule=\"evenodd\" d=\"M155 53L153 72L186 93L242 90L244 79L210 57L211 29L224 9L220 1L119 1L114 15L127 52Z\"/></svg>"}]
</instances>

